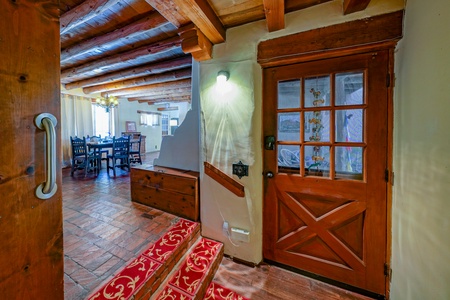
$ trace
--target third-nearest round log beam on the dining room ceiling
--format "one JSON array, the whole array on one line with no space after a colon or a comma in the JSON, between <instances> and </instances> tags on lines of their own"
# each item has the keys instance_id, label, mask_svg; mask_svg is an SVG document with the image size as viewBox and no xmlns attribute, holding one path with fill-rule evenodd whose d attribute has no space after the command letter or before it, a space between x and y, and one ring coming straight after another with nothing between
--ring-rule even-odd
<instances>
[{"instance_id":1,"label":"third-nearest round log beam on the dining room ceiling","mask_svg":"<svg viewBox=\"0 0 450 300\"><path fill-rule=\"evenodd\" d=\"M166 40L145 45L131 51L108 56L104 59L94 60L81 66L68 68L61 71L61 81L75 81L77 78L83 78L88 72L106 73L116 71L125 63L131 64L133 60L154 55L156 53L169 51L181 47L180 37L172 37Z\"/></svg>"}]
</instances>

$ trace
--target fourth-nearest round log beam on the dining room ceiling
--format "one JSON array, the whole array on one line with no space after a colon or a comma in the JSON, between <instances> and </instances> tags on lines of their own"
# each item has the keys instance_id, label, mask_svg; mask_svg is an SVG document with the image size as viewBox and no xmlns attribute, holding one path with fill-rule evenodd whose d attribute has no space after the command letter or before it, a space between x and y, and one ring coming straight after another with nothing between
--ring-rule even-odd
<instances>
[{"instance_id":1,"label":"fourth-nearest round log beam on the dining room ceiling","mask_svg":"<svg viewBox=\"0 0 450 300\"><path fill-rule=\"evenodd\" d=\"M92 77L85 80L67 83L64 85L64 87L67 90L71 90L81 87L88 87L92 85L106 84L117 80L126 80L129 78L134 78L143 75L159 74L171 70L182 69L185 67L190 67L191 65L192 65L192 57L190 55L186 55L171 60L165 60L157 63L150 63L134 68L129 68L117 72L108 73L105 75Z\"/></svg>"}]
</instances>

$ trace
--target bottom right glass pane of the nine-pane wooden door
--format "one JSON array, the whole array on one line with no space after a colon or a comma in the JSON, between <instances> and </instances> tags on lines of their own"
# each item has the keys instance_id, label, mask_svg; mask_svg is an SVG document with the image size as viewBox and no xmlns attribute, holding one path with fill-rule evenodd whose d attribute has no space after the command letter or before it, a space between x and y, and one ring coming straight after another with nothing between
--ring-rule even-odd
<instances>
[{"instance_id":1,"label":"bottom right glass pane of the nine-pane wooden door","mask_svg":"<svg viewBox=\"0 0 450 300\"><path fill-rule=\"evenodd\" d=\"M341 179L363 179L363 148L335 148L335 177Z\"/></svg>"}]
</instances>

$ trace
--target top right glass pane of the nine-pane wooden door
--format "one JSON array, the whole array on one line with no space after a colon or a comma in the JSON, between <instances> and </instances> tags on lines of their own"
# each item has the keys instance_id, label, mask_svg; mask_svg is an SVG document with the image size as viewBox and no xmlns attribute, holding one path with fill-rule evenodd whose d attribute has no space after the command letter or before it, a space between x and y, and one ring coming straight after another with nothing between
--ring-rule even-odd
<instances>
[{"instance_id":1,"label":"top right glass pane of the nine-pane wooden door","mask_svg":"<svg viewBox=\"0 0 450 300\"><path fill-rule=\"evenodd\" d=\"M364 73L336 74L336 105L364 104Z\"/></svg>"}]
</instances>

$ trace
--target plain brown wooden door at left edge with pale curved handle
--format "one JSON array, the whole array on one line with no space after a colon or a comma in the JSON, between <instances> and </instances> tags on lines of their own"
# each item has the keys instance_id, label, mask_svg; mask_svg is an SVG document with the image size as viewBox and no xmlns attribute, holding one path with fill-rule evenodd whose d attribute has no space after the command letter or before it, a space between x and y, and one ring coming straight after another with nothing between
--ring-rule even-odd
<instances>
[{"instance_id":1,"label":"plain brown wooden door at left edge with pale curved handle","mask_svg":"<svg viewBox=\"0 0 450 300\"><path fill-rule=\"evenodd\" d=\"M34 124L43 112L60 116L58 3L0 0L1 299L64 298L61 172L56 193L38 199L48 148Z\"/></svg>"}]
</instances>

